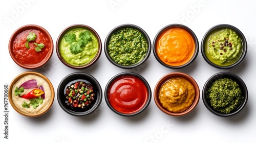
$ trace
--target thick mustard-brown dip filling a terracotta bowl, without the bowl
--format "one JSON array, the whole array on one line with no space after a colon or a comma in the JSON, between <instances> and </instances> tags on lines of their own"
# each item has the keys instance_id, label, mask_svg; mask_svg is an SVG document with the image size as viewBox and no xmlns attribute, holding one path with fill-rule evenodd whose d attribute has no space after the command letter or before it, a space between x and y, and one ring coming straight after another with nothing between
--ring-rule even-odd
<instances>
[{"instance_id":1,"label":"thick mustard-brown dip filling a terracotta bowl, without the bowl","mask_svg":"<svg viewBox=\"0 0 256 143\"><path fill-rule=\"evenodd\" d=\"M162 106L174 113L187 110L196 98L194 85L183 77L173 77L166 81L158 94Z\"/></svg>"}]
</instances>

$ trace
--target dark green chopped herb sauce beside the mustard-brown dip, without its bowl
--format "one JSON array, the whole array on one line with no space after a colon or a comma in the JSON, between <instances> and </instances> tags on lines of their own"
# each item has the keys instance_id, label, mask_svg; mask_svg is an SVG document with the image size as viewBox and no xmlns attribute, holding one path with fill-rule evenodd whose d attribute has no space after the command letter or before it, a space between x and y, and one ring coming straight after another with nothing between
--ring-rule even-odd
<instances>
[{"instance_id":1,"label":"dark green chopped herb sauce beside the mustard-brown dip, without its bowl","mask_svg":"<svg viewBox=\"0 0 256 143\"><path fill-rule=\"evenodd\" d=\"M244 97L237 82L228 79L218 79L206 91L210 106L220 113L230 113L237 109Z\"/></svg>"}]
</instances>

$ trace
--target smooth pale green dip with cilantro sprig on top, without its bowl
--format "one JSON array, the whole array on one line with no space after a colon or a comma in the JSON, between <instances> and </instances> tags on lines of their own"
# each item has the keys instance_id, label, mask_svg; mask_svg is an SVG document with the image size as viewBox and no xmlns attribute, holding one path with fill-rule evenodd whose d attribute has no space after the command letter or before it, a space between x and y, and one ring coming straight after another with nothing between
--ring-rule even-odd
<instances>
[{"instance_id":1,"label":"smooth pale green dip with cilantro sprig on top, without its bowl","mask_svg":"<svg viewBox=\"0 0 256 143\"><path fill-rule=\"evenodd\" d=\"M60 56L73 66L90 63L98 52L98 40L89 30L75 28L68 31L59 44Z\"/></svg>"}]
</instances>

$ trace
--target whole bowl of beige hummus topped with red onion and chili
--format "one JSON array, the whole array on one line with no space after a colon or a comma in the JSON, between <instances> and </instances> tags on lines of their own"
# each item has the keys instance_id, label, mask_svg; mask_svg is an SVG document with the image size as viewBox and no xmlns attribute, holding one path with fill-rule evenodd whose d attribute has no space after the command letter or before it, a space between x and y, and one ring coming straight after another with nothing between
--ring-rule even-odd
<instances>
[{"instance_id":1,"label":"whole bowl of beige hummus topped with red onion and chili","mask_svg":"<svg viewBox=\"0 0 256 143\"><path fill-rule=\"evenodd\" d=\"M33 71L15 77L8 94L13 109L29 117L46 113L54 101L54 88L50 80Z\"/></svg>"}]
</instances>

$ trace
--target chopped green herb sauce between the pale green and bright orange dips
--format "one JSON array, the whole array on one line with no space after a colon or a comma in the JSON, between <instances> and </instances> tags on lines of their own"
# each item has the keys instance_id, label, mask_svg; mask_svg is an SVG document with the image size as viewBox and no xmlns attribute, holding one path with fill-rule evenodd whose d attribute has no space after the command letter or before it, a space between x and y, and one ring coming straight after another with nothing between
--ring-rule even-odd
<instances>
[{"instance_id":1,"label":"chopped green herb sauce between the pale green and bright orange dips","mask_svg":"<svg viewBox=\"0 0 256 143\"><path fill-rule=\"evenodd\" d=\"M114 32L109 40L110 57L120 65L132 65L141 61L147 53L145 36L134 28Z\"/></svg>"}]
</instances>

